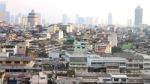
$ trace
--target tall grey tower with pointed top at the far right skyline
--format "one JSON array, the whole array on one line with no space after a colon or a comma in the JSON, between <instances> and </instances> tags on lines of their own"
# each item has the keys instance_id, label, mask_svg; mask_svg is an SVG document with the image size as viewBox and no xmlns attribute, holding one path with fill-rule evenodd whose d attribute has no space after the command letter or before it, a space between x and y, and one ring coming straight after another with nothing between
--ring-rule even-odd
<instances>
[{"instance_id":1,"label":"tall grey tower with pointed top at the far right skyline","mask_svg":"<svg viewBox=\"0 0 150 84\"><path fill-rule=\"evenodd\" d=\"M135 21L134 21L134 25L140 27L142 25L142 21L143 21L143 9L138 6L135 8Z\"/></svg>"}]
</instances>

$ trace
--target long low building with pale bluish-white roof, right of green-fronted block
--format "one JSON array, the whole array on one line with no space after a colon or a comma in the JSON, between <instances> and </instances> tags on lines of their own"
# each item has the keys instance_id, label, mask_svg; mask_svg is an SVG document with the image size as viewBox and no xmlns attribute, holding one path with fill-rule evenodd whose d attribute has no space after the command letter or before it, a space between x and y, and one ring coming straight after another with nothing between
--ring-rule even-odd
<instances>
[{"instance_id":1,"label":"long low building with pale bluish-white roof, right of green-fronted block","mask_svg":"<svg viewBox=\"0 0 150 84\"><path fill-rule=\"evenodd\" d=\"M89 57L88 71L119 74L125 72L126 59L121 57Z\"/></svg>"}]
</instances>

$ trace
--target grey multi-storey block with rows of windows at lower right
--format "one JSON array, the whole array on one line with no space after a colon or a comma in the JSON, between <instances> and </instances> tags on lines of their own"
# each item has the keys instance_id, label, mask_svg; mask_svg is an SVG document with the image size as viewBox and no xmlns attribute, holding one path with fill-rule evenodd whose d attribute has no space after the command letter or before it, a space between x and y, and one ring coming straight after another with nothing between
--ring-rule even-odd
<instances>
[{"instance_id":1,"label":"grey multi-storey block with rows of windows at lower right","mask_svg":"<svg viewBox=\"0 0 150 84\"><path fill-rule=\"evenodd\" d=\"M126 72L124 74L128 77L128 83L131 84L141 84L141 70L143 70L143 60L141 55L130 52L115 53L113 57L122 57L127 60L126 62Z\"/></svg>"}]
</instances>

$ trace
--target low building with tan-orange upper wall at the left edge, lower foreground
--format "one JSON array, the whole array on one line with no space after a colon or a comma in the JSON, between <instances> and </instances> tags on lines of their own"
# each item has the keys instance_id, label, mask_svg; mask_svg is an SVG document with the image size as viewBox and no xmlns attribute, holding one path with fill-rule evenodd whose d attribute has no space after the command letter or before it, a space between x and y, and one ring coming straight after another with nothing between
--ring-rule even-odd
<instances>
[{"instance_id":1,"label":"low building with tan-orange upper wall at the left edge, lower foreground","mask_svg":"<svg viewBox=\"0 0 150 84\"><path fill-rule=\"evenodd\" d=\"M0 57L0 69L5 72L40 70L40 68L34 67L34 61L29 57Z\"/></svg>"}]
</instances>

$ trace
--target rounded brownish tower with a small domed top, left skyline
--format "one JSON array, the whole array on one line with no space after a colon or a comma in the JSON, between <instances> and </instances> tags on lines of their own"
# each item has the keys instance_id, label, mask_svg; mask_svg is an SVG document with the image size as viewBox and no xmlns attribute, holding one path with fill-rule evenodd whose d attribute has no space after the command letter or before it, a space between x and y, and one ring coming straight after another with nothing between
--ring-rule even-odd
<instances>
[{"instance_id":1,"label":"rounded brownish tower with a small domed top, left skyline","mask_svg":"<svg viewBox=\"0 0 150 84\"><path fill-rule=\"evenodd\" d=\"M32 28L36 27L40 23L40 16L39 14L35 13L34 10L32 10L28 14L28 25Z\"/></svg>"}]
</instances>

